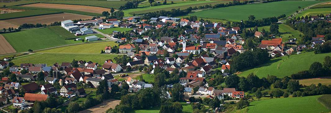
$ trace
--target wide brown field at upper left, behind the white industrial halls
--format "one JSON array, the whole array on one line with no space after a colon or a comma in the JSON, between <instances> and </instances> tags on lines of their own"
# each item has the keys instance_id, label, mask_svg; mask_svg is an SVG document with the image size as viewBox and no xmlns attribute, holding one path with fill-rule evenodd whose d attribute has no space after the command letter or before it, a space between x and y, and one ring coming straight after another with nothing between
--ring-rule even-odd
<instances>
[{"instance_id":1,"label":"wide brown field at upper left, behind the white industrial halls","mask_svg":"<svg viewBox=\"0 0 331 113\"><path fill-rule=\"evenodd\" d=\"M14 19L7 19L4 21L14 23L17 25L22 25L24 23L27 24L51 24L55 21L63 21L63 17L65 20L74 20L74 19L92 19L93 16L86 16L86 15L79 15L79 14L68 14L68 13L61 13L61 14L48 14L48 15L40 15L40 16L31 16L31 17L23 17L23 18L14 18Z\"/></svg>"}]
</instances>

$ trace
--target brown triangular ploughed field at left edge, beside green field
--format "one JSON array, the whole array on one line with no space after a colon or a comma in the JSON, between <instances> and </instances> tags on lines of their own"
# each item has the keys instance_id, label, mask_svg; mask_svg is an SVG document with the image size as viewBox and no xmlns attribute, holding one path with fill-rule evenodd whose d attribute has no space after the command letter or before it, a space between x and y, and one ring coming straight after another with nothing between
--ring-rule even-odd
<instances>
[{"instance_id":1,"label":"brown triangular ploughed field at left edge, beside green field","mask_svg":"<svg viewBox=\"0 0 331 113\"><path fill-rule=\"evenodd\" d=\"M16 53L16 50L9 44L5 37L0 35L0 55L9 53Z\"/></svg>"}]
</instances>

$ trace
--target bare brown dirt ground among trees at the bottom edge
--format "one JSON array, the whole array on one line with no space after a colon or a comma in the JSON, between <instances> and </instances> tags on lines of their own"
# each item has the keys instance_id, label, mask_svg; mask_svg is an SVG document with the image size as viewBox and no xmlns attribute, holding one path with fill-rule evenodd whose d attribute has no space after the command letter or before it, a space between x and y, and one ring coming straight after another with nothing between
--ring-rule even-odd
<instances>
[{"instance_id":1,"label":"bare brown dirt ground among trees at the bottom edge","mask_svg":"<svg viewBox=\"0 0 331 113\"><path fill-rule=\"evenodd\" d=\"M116 105L119 104L121 100L117 100L117 99L109 99L109 100L105 100L105 107L104 107L104 103L100 103L94 107L85 109L83 111L80 111L78 113L104 113L106 112L109 108L115 108Z\"/></svg>"}]
</instances>

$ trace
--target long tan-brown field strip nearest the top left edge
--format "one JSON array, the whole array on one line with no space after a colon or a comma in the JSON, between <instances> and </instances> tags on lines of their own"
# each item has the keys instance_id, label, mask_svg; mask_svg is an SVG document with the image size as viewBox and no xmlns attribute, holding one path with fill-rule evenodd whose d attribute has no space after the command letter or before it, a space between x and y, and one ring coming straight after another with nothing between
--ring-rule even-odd
<instances>
[{"instance_id":1,"label":"long tan-brown field strip nearest the top left edge","mask_svg":"<svg viewBox=\"0 0 331 113\"><path fill-rule=\"evenodd\" d=\"M23 5L23 6L24 7L37 7L37 8L66 9L66 10L75 10L75 11L83 11L83 12L99 13L99 14L101 14L103 11L110 12L110 10L111 10L108 8L100 8L100 7L93 7L93 6L46 4L46 3L28 4L28 5Z\"/></svg>"}]
</instances>

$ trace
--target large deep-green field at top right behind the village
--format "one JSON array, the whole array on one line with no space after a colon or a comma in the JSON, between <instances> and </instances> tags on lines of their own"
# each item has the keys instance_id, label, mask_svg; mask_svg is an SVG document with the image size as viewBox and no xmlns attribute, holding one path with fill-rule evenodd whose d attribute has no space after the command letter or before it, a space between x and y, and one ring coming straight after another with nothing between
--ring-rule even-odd
<instances>
[{"instance_id":1,"label":"large deep-green field at top right behind the village","mask_svg":"<svg viewBox=\"0 0 331 113\"><path fill-rule=\"evenodd\" d=\"M189 15L216 19L227 19L232 21L248 20L249 15L254 15L256 19L261 19L273 16L277 17L281 14L285 14L286 16L288 16L295 13L296 10L299 10L298 6L300 6L301 8L306 8L310 5L317 4L320 2L323 1L279 1L261 4L247 4L198 11Z\"/></svg>"}]
</instances>

